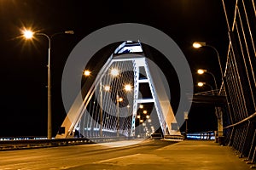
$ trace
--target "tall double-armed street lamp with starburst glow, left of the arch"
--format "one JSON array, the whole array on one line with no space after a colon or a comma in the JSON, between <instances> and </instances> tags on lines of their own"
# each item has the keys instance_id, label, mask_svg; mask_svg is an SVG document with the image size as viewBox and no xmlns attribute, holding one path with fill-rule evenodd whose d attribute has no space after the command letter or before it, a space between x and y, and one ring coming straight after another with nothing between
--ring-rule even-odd
<instances>
[{"instance_id":1,"label":"tall double-armed street lamp with starburst glow, left of the arch","mask_svg":"<svg viewBox=\"0 0 256 170\"><path fill-rule=\"evenodd\" d=\"M48 84L47 84L47 89L48 89L48 131L47 131L47 139L51 139L52 137L52 126L51 126L51 72L50 72L50 41L51 38L54 37L57 34L74 34L73 31L61 31L53 34L52 36L48 36L45 33L42 32L33 32L30 30L24 30L23 31L23 36L26 39L32 39L34 36L44 36L48 39Z\"/></svg>"}]
</instances>

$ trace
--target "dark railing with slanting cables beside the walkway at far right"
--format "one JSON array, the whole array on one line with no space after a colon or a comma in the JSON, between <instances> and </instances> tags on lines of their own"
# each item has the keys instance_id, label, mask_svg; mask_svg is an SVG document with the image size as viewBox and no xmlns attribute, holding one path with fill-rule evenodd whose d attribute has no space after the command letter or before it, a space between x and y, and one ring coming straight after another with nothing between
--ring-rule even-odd
<instances>
[{"instance_id":1,"label":"dark railing with slanting cables beside the walkway at far right","mask_svg":"<svg viewBox=\"0 0 256 170\"><path fill-rule=\"evenodd\" d=\"M230 44L224 73L224 89L229 111L224 114L224 143L247 163L256 162L256 70L254 0L236 0L235 8L226 8ZM234 10L235 9L235 10ZM229 11L230 10L230 11Z\"/></svg>"}]
</instances>

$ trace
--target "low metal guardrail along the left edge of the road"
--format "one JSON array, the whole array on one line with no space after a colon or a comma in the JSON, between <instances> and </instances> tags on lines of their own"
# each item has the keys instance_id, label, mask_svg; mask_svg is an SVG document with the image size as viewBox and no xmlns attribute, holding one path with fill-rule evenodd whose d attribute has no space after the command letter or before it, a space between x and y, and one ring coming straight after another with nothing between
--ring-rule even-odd
<instances>
[{"instance_id":1,"label":"low metal guardrail along the left edge of the road","mask_svg":"<svg viewBox=\"0 0 256 170\"><path fill-rule=\"evenodd\" d=\"M15 139L15 138L14 138ZM46 147L56 147L65 145L75 145L75 144L96 144L105 143L111 141L124 140L123 137L111 137L111 138L76 138L76 139L6 139L0 141L0 151L3 150L24 150L24 149L36 149L36 148L46 148Z\"/></svg>"}]
</instances>

